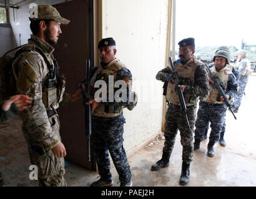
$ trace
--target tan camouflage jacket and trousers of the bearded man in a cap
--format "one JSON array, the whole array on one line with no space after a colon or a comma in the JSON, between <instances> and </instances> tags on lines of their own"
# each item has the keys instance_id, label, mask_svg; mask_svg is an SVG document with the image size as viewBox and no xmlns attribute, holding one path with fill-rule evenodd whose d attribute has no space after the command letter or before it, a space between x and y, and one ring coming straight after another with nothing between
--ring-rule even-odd
<instances>
[{"instance_id":1,"label":"tan camouflage jacket and trousers of the bearded man in a cap","mask_svg":"<svg viewBox=\"0 0 256 199\"><path fill-rule=\"evenodd\" d=\"M59 134L59 103L68 103L71 95L64 93L64 86L49 86L49 65L53 65L54 48L31 35L13 62L19 94L33 98L32 105L19 116L31 164L38 167L39 185L66 186L64 157L55 158L52 148L61 142ZM46 60L47 59L47 60ZM63 80L64 81L64 80ZM51 87L51 88L49 88Z\"/></svg>"}]
</instances>

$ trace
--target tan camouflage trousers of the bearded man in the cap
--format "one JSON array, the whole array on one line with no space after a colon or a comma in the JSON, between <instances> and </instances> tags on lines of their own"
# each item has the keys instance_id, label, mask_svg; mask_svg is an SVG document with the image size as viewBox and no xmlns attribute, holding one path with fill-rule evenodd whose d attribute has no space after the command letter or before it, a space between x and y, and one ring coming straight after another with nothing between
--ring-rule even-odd
<instances>
[{"instance_id":1,"label":"tan camouflage trousers of the bearded man in the cap","mask_svg":"<svg viewBox=\"0 0 256 199\"><path fill-rule=\"evenodd\" d=\"M59 136L59 117L57 115L49 119L52 131ZM29 132L22 125L22 131L29 147L29 157L32 165L37 165L39 185L42 187L66 187L64 178L64 157L54 157L52 150L47 152L38 143L29 142ZM61 137L59 136L59 140Z\"/></svg>"}]
</instances>

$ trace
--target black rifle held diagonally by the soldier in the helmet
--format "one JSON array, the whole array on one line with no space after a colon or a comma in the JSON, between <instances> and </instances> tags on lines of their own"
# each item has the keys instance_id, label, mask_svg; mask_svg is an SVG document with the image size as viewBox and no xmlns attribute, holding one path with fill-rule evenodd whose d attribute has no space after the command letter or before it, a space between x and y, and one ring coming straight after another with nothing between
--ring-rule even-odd
<instances>
[{"instance_id":1,"label":"black rifle held diagonally by the soldier in the helmet","mask_svg":"<svg viewBox=\"0 0 256 199\"><path fill-rule=\"evenodd\" d=\"M231 113L233 114L234 118L237 119L237 118L235 117L234 112L232 111L232 107L231 107L231 104L229 103L229 99L227 99L224 90L223 90L222 87L220 86L220 78L219 78L219 76L215 76L215 75L211 72L211 70L210 70L209 66L207 65L207 63L205 63L205 65L206 65L206 67L207 67L207 69L208 69L208 71L209 71L210 80L214 81L214 83L212 83L212 88L215 88L215 89L217 89L217 90L219 91L220 96L222 96L222 97L224 98L224 102L225 102L226 106L229 108L229 110L230 110Z\"/></svg>"}]
</instances>

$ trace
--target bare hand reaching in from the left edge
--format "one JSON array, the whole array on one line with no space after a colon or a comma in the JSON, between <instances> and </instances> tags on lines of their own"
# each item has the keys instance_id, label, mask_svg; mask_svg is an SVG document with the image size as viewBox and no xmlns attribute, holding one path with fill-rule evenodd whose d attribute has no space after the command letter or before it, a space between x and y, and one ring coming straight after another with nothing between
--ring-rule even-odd
<instances>
[{"instance_id":1,"label":"bare hand reaching in from the left edge","mask_svg":"<svg viewBox=\"0 0 256 199\"><path fill-rule=\"evenodd\" d=\"M28 104L32 103L32 98L29 98L29 96L26 95L14 95L2 104L2 110L8 111L12 103L17 106L19 111L23 111L27 109Z\"/></svg>"}]
</instances>

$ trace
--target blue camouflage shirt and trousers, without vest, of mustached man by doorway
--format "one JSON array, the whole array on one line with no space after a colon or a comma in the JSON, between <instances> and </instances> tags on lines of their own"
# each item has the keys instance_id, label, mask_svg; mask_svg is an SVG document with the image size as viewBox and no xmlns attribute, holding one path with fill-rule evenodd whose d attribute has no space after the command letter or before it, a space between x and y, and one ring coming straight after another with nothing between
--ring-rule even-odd
<instances>
[{"instance_id":1,"label":"blue camouflage shirt and trousers, without vest, of mustached man by doorway","mask_svg":"<svg viewBox=\"0 0 256 199\"><path fill-rule=\"evenodd\" d=\"M190 63L200 62L195 58L189 60ZM178 62L179 64L179 62ZM174 62L177 65L177 62ZM182 65L181 68L188 69L187 64ZM160 81L167 81L167 76L170 74L169 68L164 68L157 73L155 78ZM178 72L179 74L179 72ZM190 131L185 124L184 114L180 109L180 105L169 103L169 107L165 116L165 143L163 147L163 152L172 153L175 143L175 137L177 135L178 129L180 131L180 142L183 146L182 150L182 161L186 164L190 164L193 160L194 154L194 142L193 142L193 132L196 119L196 109L197 109L197 98L207 98L209 94L209 78L207 76L207 71L202 62L197 66L194 72L194 85L191 84L189 78L181 78L179 74L181 85L185 85L184 96L190 96L190 99L195 98L192 104L186 103L187 106L187 117L189 119ZM168 95L168 92L167 92Z\"/></svg>"}]
</instances>

